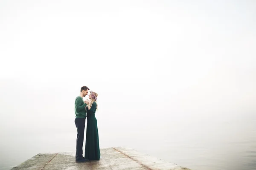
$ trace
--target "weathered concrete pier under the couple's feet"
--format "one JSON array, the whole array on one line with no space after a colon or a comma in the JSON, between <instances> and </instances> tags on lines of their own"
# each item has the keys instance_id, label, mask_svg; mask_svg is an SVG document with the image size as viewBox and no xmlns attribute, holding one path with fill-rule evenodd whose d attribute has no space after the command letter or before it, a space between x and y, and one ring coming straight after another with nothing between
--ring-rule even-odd
<instances>
[{"instance_id":1,"label":"weathered concrete pier under the couple's feet","mask_svg":"<svg viewBox=\"0 0 256 170\"><path fill-rule=\"evenodd\" d=\"M190 170L125 147L101 149L99 161L76 162L75 152L39 153L12 170Z\"/></svg>"}]
</instances>

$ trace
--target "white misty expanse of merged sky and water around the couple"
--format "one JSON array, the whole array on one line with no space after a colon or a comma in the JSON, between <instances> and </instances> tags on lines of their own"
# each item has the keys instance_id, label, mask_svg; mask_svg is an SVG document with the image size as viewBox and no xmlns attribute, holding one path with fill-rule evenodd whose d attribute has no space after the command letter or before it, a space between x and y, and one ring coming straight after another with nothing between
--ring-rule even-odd
<instances>
[{"instance_id":1,"label":"white misty expanse of merged sky and water around the couple","mask_svg":"<svg viewBox=\"0 0 256 170\"><path fill-rule=\"evenodd\" d=\"M0 2L0 170L76 149L83 85L102 148L256 170L255 0L19 2Z\"/></svg>"}]
</instances>

